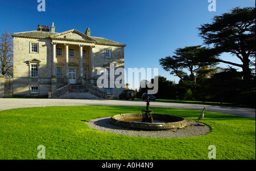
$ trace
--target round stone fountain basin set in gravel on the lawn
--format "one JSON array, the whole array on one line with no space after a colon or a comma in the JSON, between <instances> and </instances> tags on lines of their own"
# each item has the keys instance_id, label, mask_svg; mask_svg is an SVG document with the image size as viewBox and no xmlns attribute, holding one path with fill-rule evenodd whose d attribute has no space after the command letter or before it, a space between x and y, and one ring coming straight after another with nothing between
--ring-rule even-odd
<instances>
[{"instance_id":1,"label":"round stone fountain basin set in gravel on the lawn","mask_svg":"<svg viewBox=\"0 0 256 171\"><path fill-rule=\"evenodd\" d=\"M115 126L147 131L177 129L187 126L187 121L183 117L158 113L152 113L151 116L154 123L141 122L142 113L118 114L110 119L110 123Z\"/></svg>"}]
</instances>

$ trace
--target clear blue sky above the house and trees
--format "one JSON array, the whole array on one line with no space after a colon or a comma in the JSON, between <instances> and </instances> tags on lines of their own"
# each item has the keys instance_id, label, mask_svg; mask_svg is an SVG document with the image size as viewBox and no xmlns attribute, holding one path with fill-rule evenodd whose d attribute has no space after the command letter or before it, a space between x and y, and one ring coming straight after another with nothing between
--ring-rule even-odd
<instances>
[{"instance_id":1,"label":"clear blue sky above the house and trees","mask_svg":"<svg viewBox=\"0 0 256 171\"><path fill-rule=\"evenodd\" d=\"M73 28L85 32L89 27L91 36L127 45L126 70L158 68L159 75L177 82L178 78L162 69L159 59L174 55L177 48L203 44L197 27L234 7L254 6L255 1L216 0L212 12L208 0L46 0L45 12L39 12L38 5L37 0L1 0L0 33L6 29L10 33L33 31L38 24L51 26L52 22L56 32ZM222 58L239 62L229 54Z\"/></svg>"}]
</instances>

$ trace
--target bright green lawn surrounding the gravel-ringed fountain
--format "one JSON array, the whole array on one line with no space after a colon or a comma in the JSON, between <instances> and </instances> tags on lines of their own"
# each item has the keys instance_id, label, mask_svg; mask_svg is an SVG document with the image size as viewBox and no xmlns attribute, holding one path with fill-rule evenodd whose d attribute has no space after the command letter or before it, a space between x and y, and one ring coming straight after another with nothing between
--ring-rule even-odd
<instances>
[{"instance_id":1,"label":"bright green lawn surrounding the gravel-ringed fountain","mask_svg":"<svg viewBox=\"0 0 256 171\"><path fill-rule=\"evenodd\" d=\"M153 108L196 120L200 111ZM137 113L139 106L59 106L0 112L0 160L38 159L39 145L46 159L208 159L210 145L216 159L255 160L255 119L205 111L207 135L188 138L143 138L91 129L86 122L120 113Z\"/></svg>"}]
</instances>

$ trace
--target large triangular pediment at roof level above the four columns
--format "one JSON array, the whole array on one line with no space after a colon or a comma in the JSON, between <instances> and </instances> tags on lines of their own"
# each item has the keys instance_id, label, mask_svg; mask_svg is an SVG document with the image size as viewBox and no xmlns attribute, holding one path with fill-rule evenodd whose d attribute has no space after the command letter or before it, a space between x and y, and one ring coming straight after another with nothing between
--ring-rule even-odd
<instances>
[{"instance_id":1,"label":"large triangular pediment at roof level above the four columns","mask_svg":"<svg viewBox=\"0 0 256 171\"><path fill-rule=\"evenodd\" d=\"M85 35L84 33L81 33L77 31L76 29L71 29L69 31L65 31L62 33L59 33L57 35L51 36L52 39L67 39L67 40L80 40L80 41L96 41L92 39L91 37Z\"/></svg>"}]
</instances>

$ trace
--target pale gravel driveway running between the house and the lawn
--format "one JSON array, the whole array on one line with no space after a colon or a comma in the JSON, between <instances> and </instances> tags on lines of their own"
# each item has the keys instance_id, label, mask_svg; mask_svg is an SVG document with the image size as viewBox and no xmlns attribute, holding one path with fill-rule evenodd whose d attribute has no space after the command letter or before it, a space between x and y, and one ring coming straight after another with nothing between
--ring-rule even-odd
<instances>
[{"instance_id":1,"label":"pale gravel driveway running between the house and the lawn","mask_svg":"<svg viewBox=\"0 0 256 171\"><path fill-rule=\"evenodd\" d=\"M0 110L31 108L40 106L81 106L81 105L100 105L100 106L146 106L142 100L81 100L81 99L3 99L0 98ZM209 112L220 112L234 114L237 116L255 118L255 109L236 108L230 106L214 106L200 104L181 104L173 102L150 102L152 107L177 108L202 110L204 107Z\"/></svg>"}]
</instances>

